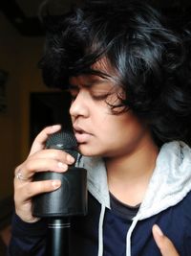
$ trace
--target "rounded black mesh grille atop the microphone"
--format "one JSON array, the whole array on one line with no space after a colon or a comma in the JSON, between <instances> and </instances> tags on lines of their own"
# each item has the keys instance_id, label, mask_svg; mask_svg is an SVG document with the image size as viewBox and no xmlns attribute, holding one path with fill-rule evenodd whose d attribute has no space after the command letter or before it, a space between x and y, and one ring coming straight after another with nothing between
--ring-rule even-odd
<instances>
[{"instance_id":1,"label":"rounded black mesh grille atop the microphone","mask_svg":"<svg viewBox=\"0 0 191 256\"><path fill-rule=\"evenodd\" d=\"M46 148L66 151L74 157L75 161L77 159L77 141L72 131L65 130L51 134L46 142Z\"/></svg>"}]
</instances>

